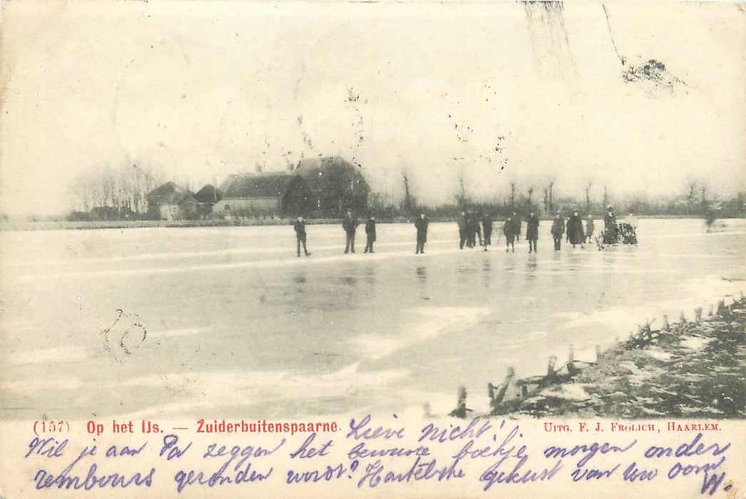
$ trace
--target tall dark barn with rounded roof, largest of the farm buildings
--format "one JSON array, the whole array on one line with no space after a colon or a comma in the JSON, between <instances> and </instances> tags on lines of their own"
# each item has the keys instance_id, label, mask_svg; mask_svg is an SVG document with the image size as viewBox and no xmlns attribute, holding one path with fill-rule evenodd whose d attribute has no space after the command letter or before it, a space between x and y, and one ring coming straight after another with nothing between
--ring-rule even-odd
<instances>
[{"instance_id":1,"label":"tall dark barn with rounded roof, largest of the farm buildings","mask_svg":"<svg viewBox=\"0 0 746 499\"><path fill-rule=\"evenodd\" d=\"M302 159L293 173L307 184L314 217L340 217L347 209L360 214L368 206L370 187L360 168L339 156Z\"/></svg>"}]
</instances>

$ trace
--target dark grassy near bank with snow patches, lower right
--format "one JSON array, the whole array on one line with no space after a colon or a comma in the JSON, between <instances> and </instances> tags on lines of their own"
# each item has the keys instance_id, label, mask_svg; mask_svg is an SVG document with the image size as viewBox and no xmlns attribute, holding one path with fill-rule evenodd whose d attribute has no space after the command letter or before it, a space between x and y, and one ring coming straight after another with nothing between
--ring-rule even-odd
<instances>
[{"instance_id":1,"label":"dark grassy near bank with snow patches, lower right","mask_svg":"<svg viewBox=\"0 0 746 499\"><path fill-rule=\"evenodd\" d=\"M507 380L495 389L501 400L495 400L492 412L621 419L743 418L745 366L746 299L742 297L730 306L721 304L706 320L681 320L656 331L642 328L588 366L568 362L542 377Z\"/></svg>"}]
</instances>

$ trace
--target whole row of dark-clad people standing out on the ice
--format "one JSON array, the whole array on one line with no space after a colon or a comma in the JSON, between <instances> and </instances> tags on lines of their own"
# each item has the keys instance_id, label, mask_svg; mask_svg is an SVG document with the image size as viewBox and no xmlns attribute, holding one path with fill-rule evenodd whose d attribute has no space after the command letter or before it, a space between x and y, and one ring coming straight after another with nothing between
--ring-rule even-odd
<instances>
[{"instance_id":1,"label":"whole row of dark-clad people standing out on the ice","mask_svg":"<svg viewBox=\"0 0 746 499\"><path fill-rule=\"evenodd\" d=\"M536 243L539 241L539 216L536 212L530 212L526 217L526 240L528 241L528 252L536 252ZM463 211L458 219L459 228L459 248L464 247L474 248L479 247L487 251L487 248L492 245L492 217L489 214L482 214L480 212L468 212ZM521 223L522 220L518 217L518 214L513 212L510 214L503 223L503 235L505 236L505 251L515 252L515 241L521 238ZM416 249L417 254L424 253L424 244L427 242L427 227L430 221L427 220L427 216L424 213L419 214L414 222L416 229ZM348 211L345 217L342 219L342 229L345 231L345 253L355 252L355 234L357 232L357 226L360 225L360 221L357 220L354 215ZM604 231L598 238L599 247L603 247L606 244L617 244L623 242L625 244L637 244L636 237L636 218L630 214L623 223L617 223L614 209L609 206L604 214ZM293 222L295 229L295 238L297 240L297 255L301 256L301 247L306 256L310 256L310 252L306 248L306 220L304 217L298 217L298 220ZM373 244L376 241L376 220L375 217L369 217L366 221L366 249L364 252L373 253ZM592 215L588 215L585 220L585 226L583 226L583 218L580 217L577 210L572 212L570 217L562 217L561 212L557 212L552 219L551 235L554 239L554 249L559 250L562 247L562 238L572 247L592 241L594 224Z\"/></svg>"}]
</instances>

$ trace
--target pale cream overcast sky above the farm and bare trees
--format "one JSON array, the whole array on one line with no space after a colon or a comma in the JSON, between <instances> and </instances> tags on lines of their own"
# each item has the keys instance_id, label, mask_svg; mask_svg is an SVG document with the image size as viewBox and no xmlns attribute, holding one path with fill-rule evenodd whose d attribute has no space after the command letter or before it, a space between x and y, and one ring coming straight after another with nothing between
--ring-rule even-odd
<instances>
[{"instance_id":1,"label":"pale cream overcast sky above the farm and bare trees","mask_svg":"<svg viewBox=\"0 0 746 499\"><path fill-rule=\"evenodd\" d=\"M608 21L606 17L608 14ZM746 34L733 4L4 2L0 203L71 206L136 163L199 188L301 156L398 196L746 185ZM613 36L613 37L612 37ZM620 57L624 57L624 65ZM665 71L627 82L630 66Z\"/></svg>"}]
</instances>

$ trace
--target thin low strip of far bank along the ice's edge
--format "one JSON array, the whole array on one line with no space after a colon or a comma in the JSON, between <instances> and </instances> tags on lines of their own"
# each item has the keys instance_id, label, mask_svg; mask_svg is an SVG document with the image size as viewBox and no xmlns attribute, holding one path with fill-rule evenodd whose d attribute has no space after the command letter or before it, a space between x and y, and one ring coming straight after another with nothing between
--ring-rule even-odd
<instances>
[{"instance_id":1,"label":"thin low strip of far bank along the ice's edge","mask_svg":"<svg viewBox=\"0 0 746 499\"><path fill-rule=\"evenodd\" d=\"M619 220L624 214L617 215ZM686 215L636 215L639 220L704 220L703 217ZM453 222L452 217L429 217L430 222ZM739 217L730 217L739 218ZM601 220L603 216L595 217ZM69 221L69 220L38 220L38 221L3 221L0 222L0 231L25 231L25 230L92 230L92 229L147 229L154 227L163 228L185 228L185 227L243 227L243 226L285 226L289 225L294 218L243 218L239 220L99 220L99 221ZM360 217L361 222L365 220ZM412 219L395 217L392 219L379 219L378 223L411 223ZM500 218L495 218L499 222ZM541 220L551 220L551 217L542 217ZM727 220L721 218L718 220ZM308 225L328 225L342 223L342 219L319 218L307 220Z\"/></svg>"}]
</instances>

